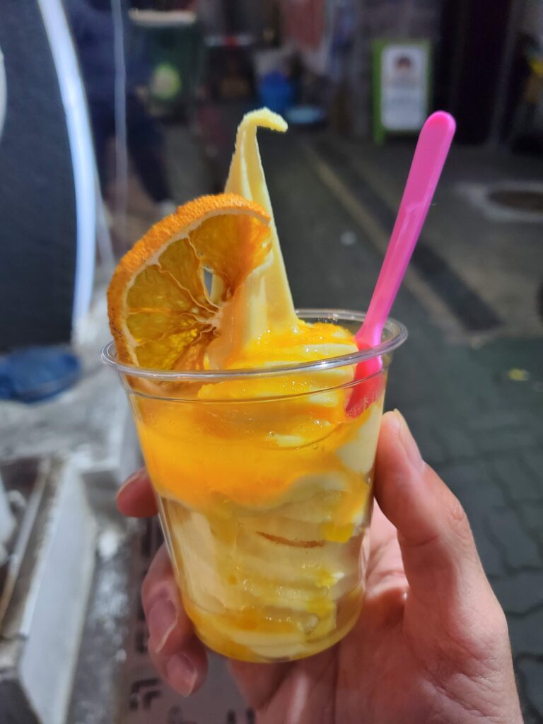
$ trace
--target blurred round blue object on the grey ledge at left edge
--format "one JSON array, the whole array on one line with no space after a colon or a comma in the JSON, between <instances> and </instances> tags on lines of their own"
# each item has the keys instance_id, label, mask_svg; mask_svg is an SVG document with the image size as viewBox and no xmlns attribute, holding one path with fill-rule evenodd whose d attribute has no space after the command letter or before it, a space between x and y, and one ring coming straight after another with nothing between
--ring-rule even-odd
<instances>
[{"instance_id":1,"label":"blurred round blue object on the grey ledge at left edge","mask_svg":"<svg viewBox=\"0 0 543 724\"><path fill-rule=\"evenodd\" d=\"M0 399L46 400L71 387L80 375L80 361L62 348L17 350L0 361Z\"/></svg>"}]
</instances>

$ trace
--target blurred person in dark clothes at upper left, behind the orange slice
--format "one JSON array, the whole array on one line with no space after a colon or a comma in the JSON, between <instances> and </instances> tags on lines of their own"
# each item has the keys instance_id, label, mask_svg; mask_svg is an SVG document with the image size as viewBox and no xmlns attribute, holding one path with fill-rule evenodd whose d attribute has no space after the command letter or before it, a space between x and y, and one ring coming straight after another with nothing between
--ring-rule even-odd
<instances>
[{"instance_id":1,"label":"blurred person in dark clothes at upper left, behind the orange slice","mask_svg":"<svg viewBox=\"0 0 543 724\"><path fill-rule=\"evenodd\" d=\"M107 145L116 135L117 67L114 57L112 1L114 0L64 0L85 81L96 164L104 197L109 183ZM125 0L118 1L122 7L126 48L130 18ZM171 214L177 204L172 201L167 181L161 129L143 102L150 70L143 51L137 54L125 53L125 64L127 147L140 182L156 204L157 216L162 218Z\"/></svg>"}]
</instances>

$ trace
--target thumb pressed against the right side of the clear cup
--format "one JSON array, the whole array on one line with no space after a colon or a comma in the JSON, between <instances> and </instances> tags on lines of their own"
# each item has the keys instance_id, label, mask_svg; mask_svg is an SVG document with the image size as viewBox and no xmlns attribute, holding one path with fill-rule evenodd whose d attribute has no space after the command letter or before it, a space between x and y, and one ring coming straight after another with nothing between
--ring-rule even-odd
<instances>
[{"instance_id":1,"label":"thumb pressed against the right side of the clear cup","mask_svg":"<svg viewBox=\"0 0 543 724\"><path fill-rule=\"evenodd\" d=\"M461 592L489 592L466 513L424 463L397 411L383 417L375 487L377 502L397 529L405 575L419 602L460 603Z\"/></svg>"}]
</instances>

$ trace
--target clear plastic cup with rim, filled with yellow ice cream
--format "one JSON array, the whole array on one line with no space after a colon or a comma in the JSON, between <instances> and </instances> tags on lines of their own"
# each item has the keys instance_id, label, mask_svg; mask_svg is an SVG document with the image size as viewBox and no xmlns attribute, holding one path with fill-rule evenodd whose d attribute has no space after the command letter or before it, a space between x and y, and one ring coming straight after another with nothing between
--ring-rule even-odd
<instances>
[{"instance_id":1,"label":"clear plastic cup with rim, filled with yellow ice cream","mask_svg":"<svg viewBox=\"0 0 543 724\"><path fill-rule=\"evenodd\" d=\"M363 314L302 310L355 332ZM169 555L195 630L225 656L315 654L362 604L374 458L392 352L389 319L372 350L251 370L117 370L138 428ZM356 365L379 356L371 382ZM353 388L371 399L345 409Z\"/></svg>"}]
</instances>

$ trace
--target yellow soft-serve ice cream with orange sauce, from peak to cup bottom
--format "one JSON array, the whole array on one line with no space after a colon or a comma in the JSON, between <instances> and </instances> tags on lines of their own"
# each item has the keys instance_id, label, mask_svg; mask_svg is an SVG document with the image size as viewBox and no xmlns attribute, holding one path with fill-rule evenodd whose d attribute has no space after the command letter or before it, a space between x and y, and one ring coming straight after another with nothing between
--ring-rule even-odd
<instances>
[{"instance_id":1,"label":"yellow soft-serve ice cream with orange sauce, from peak to cup bottom","mask_svg":"<svg viewBox=\"0 0 543 724\"><path fill-rule=\"evenodd\" d=\"M266 253L231 295L214 276L219 312L195 337L208 335L201 368L243 372L130 397L198 635L222 654L271 661L329 647L358 617L383 399L348 416L353 363L284 369L357 348L347 329L295 314L259 126L286 129L266 110L243 119L226 191L269 214Z\"/></svg>"}]
</instances>

